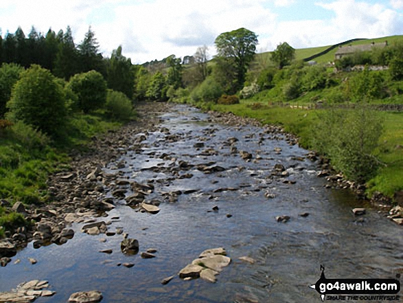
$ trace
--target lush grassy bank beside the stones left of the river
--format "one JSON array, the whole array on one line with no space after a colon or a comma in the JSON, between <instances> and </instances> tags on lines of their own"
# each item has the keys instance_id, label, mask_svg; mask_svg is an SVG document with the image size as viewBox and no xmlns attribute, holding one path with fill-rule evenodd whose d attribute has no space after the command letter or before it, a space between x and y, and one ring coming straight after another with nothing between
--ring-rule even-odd
<instances>
[{"instance_id":1,"label":"lush grassy bank beside the stones left of the river","mask_svg":"<svg viewBox=\"0 0 403 303\"><path fill-rule=\"evenodd\" d=\"M46 181L51 173L69 168L69 150L91 148L91 137L122 126L104 113L76 113L69 118L65 134L56 141L23 124L14 124L0 133L0 238L5 229L29 224L10 212L16 201L25 205L48 203ZM1 206L3 205L3 206Z\"/></svg>"}]
</instances>

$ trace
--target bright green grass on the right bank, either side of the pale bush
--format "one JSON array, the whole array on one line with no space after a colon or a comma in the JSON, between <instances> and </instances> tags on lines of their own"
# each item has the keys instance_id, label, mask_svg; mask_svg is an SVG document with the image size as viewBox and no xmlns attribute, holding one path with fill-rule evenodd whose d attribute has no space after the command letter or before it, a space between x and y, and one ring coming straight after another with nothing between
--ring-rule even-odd
<instances>
[{"instance_id":1,"label":"bright green grass on the right bank, either side of the pale bush","mask_svg":"<svg viewBox=\"0 0 403 303\"><path fill-rule=\"evenodd\" d=\"M319 110L291 109L290 107L268 106L262 103L251 103L241 100L240 104L220 105L211 104L215 111L231 112L235 115L253 117L264 124L284 126L285 130L297 135L300 144L310 148L311 127L318 119ZM382 192L388 197L398 190L403 190L403 113L378 112L384 120L384 133L380 138L379 148L376 150L382 165L376 177L371 179L368 194L375 191Z\"/></svg>"}]
</instances>

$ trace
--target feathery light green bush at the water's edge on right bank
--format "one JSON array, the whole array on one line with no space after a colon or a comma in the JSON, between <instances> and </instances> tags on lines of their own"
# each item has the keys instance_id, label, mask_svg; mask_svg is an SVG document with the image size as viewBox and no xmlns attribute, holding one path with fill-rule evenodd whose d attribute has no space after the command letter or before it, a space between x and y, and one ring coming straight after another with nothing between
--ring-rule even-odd
<instances>
[{"instance_id":1,"label":"feathery light green bush at the water's edge on right bank","mask_svg":"<svg viewBox=\"0 0 403 303\"><path fill-rule=\"evenodd\" d=\"M363 183L376 174L374 150L382 133L379 116L358 104L355 109L328 109L313 126L312 144L350 180Z\"/></svg>"}]
</instances>

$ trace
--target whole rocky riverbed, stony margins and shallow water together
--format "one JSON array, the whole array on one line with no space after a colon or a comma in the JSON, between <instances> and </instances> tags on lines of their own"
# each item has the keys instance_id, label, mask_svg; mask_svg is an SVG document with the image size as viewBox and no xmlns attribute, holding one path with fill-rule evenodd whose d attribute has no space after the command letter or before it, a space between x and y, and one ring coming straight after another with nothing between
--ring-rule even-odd
<instances>
[{"instance_id":1,"label":"whole rocky riverbed, stony margins and shallow water together","mask_svg":"<svg viewBox=\"0 0 403 303\"><path fill-rule=\"evenodd\" d=\"M0 244L0 291L41 279L56 291L43 302L94 289L107 302L301 302L323 263L342 278L402 272L401 227L281 128L161 103L139 113L51 176L54 203L16 207L36 224ZM195 259L215 247L227 256Z\"/></svg>"}]
</instances>

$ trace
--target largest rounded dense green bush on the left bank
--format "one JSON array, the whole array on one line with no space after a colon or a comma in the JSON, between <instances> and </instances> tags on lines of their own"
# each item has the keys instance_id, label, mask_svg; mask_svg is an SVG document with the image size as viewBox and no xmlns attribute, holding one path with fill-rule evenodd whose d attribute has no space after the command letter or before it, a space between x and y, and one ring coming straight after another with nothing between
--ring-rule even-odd
<instances>
[{"instance_id":1,"label":"largest rounded dense green bush on the left bank","mask_svg":"<svg viewBox=\"0 0 403 303\"><path fill-rule=\"evenodd\" d=\"M23 121L43 133L58 135L67 115L65 93L56 78L39 65L21 73L8 102L12 121Z\"/></svg>"}]
</instances>

